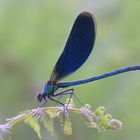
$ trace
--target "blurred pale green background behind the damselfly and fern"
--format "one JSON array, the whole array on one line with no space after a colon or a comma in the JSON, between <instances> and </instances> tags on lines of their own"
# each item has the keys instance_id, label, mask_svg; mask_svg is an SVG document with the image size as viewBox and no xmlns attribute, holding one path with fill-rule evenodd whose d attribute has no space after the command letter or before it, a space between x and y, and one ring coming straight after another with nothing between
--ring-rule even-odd
<instances>
[{"instance_id":1,"label":"blurred pale green background behind the damselfly and fern","mask_svg":"<svg viewBox=\"0 0 140 140\"><path fill-rule=\"evenodd\" d=\"M127 65L140 63L139 0L0 0L0 122L19 111L37 107L41 91L63 50L78 14L96 16L97 37L89 59L64 81L83 79ZM50 136L42 129L43 140L138 140L140 138L140 73L130 72L76 86L75 93L93 108L103 105L122 120L121 131L87 128L72 116L73 134L61 129ZM12 130L12 140L38 140L26 124Z\"/></svg>"}]
</instances>

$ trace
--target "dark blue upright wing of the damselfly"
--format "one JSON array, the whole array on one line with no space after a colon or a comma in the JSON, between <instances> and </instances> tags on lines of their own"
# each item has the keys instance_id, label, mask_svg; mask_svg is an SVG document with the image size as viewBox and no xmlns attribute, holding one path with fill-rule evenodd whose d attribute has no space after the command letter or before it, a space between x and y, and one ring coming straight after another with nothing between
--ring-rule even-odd
<instances>
[{"instance_id":1,"label":"dark blue upright wing of the damselfly","mask_svg":"<svg viewBox=\"0 0 140 140\"><path fill-rule=\"evenodd\" d=\"M88 12L74 22L65 48L52 71L50 80L59 81L76 71L90 55L96 36L95 20Z\"/></svg>"}]
</instances>

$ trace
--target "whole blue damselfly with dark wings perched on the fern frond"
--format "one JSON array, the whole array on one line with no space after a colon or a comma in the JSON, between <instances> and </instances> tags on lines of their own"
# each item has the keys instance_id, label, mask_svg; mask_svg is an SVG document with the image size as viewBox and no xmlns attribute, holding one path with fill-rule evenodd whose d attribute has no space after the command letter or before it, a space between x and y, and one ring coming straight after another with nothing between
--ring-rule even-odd
<instances>
[{"instance_id":1,"label":"whole blue damselfly with dark wings perched on the fern frond","mask_svg":"<svg viewBox=\"0 0 140 140\"><path fill-rule=\"evenodd\" d=\"M140 70L140 65L134 65L120 68L118 70L114 70L105 74L101 74L83 80L64 83L59 82L61 79L72 74L84 64L84 62L87 60L87 58L93 50L95 37L95 18L93 18L93 16L88 12L81 13L74 22L65 48L62 54L60 55L56 65L53 68L50 80L45 84L43 93L37 95L37 100L39 102L41 102L42 99L47 100L48 98L63 105L63 103L55 100L53 97L64 94L72 95L73 89L68 89L66 91L56 94L55 91L57 91L59 88L66 88L69 86L85 84L116 74Z\"/></svg>"}]
</instances>

